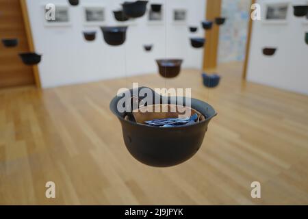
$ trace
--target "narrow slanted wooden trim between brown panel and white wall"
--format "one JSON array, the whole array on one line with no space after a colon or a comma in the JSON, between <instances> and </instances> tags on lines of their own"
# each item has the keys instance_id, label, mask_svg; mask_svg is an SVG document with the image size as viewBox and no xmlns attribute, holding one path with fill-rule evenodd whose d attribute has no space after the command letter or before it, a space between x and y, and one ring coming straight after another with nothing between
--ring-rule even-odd
<instances>
[{"instance_id":1,"label":"narrow slanted wooden trim between brown panel and white wall","mask_svg":"<svg viewBox=\"0 0 308 219\"><path fill-rule=\"evenodd\" d=\"M26 3L25 0L20 0L20 1L21 1L21 11L23 12L23 22L25 23L25 30L26 30L27 40L28 40L28 44L29 44L29 50L31 52L35 52L36 49L34 47L34 42L33 42L33 38L32 38L31 26L30 26L28 10L27 10L27 3ZM34 80L36 82L36 87L41 88L40 74L38 72L38 66L34 65L32 68L33 68L33 72L34 72Z\"/></svg>"}]
</instances>

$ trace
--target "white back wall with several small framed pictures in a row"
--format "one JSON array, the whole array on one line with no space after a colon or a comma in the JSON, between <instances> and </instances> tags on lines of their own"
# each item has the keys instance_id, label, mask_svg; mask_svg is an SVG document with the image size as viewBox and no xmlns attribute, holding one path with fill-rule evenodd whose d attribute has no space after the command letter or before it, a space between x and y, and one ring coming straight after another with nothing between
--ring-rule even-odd
<instances>
[{"instance_id":1,"label":"white back wall with several small framed pictures in a row","mask_svg":"<svg viewBox=\"0 0 308 219\"><path fill-rule=\"evenodd\" d=\"M144 73L157 73L157 58L183 58L183 68L201 68L203 49L190 46L190 36L203 37L201 21L205 18L206 0L152 0L162 3L165 20L160 24L148 21L148 12L129 24L125 44L112 47L103 41L98 26L84 23L83 6L104 6L105 26L125 25L114 19L113 10L120 9L120 0L79 0L78 6L70 6L70 25L47 27L44 25L44 5L68 5L67 0L27 0L27 9L37 53L42 62L38 65L42 87L84 83L101 79L126 77ZM174 9L186 9L186 23L173 21ZM166 24L166 26L164 25ZM198 25L197 33L190 33L189 25ZM97 39L86 42L82 31L96 30ZM143 44L153 44L151 52L145 52ZM125 65L126 60L126 65ZM126 67L125 67L126 66Z\"/></svg>"}]
</instances>

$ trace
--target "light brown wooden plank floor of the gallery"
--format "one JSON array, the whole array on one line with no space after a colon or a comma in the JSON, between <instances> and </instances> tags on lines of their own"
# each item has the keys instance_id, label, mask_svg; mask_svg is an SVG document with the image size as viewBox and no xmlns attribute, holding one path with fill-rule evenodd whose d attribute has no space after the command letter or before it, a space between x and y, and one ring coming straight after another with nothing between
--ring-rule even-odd
<instances>
[{"instance_id":1,"label":"light brown wooden plank floor of the gallery","mask_svg":"<svg viewBox=\"0 0 308 219\"><path fill-rule=\"evenodd\" d=\"M203 87L197 70L38 91L0 90L0 204L308 204L308 96L245 83L241 64ZM153 168L125 148L109 110L118 88L192 88L218 112L188 162ZM155 138L155 136L153 136ZM45 198L54 181L56 198ZM251 198L251 182L261 198Z\"/></svg>"}]
</instances>

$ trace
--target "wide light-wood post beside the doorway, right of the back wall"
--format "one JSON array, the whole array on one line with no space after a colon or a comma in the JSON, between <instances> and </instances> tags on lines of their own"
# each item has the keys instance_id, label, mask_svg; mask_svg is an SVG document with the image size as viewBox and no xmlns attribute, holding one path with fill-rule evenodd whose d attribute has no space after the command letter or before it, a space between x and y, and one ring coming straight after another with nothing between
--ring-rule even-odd
<instances>
[{"instance_id":1,"label":"wide light-wood post beside the doorway, right of the back wall","mask_svg":"<svg viewBox=\"0 0 308 219\"><path fill-rule=\"evenodd\" d=\"M207 0L206 20L213 21L220 16L221 0ZM205 49L203 53L203 69L217 66L219 26L214 25L210 30L205 30Z\"/></svg>"}]
</instances>

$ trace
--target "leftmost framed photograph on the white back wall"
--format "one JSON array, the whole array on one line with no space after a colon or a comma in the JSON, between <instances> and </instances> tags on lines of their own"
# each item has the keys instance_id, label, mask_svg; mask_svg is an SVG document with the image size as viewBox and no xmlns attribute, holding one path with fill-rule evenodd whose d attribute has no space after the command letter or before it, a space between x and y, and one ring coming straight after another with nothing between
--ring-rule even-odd
<instances>
[{"instance_id":1,"label":"leftmost framed photograph on the white back wall","mask_svg":"<svg viewBox=\"0 0 308 219\"><path fill-rule=\"evenodd\" d=\"M47 13L45 5L42 5L44 15ZM55 19L47 20L45 16L44 25L47 27L69 26L70 23L70 8L68 5L55 5Z\"/></svg>"}]
</instances>

